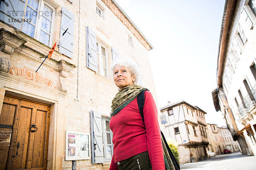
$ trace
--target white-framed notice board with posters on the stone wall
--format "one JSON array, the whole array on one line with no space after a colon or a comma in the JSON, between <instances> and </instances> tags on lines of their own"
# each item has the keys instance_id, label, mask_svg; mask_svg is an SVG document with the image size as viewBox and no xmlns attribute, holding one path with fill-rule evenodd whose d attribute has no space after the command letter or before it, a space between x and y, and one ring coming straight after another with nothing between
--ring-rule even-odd
<instances>
[{"instance_id":1,"label":"white-framed notice board with posters on the stone wall","mask_svg":"<svg viewBox=\"0 0 256 170\"><path fill-rule=\"evenodd\" d=\"M89 136L89 133L66 131L66 161L90 159Z\"/></svg>"}]
</instances>

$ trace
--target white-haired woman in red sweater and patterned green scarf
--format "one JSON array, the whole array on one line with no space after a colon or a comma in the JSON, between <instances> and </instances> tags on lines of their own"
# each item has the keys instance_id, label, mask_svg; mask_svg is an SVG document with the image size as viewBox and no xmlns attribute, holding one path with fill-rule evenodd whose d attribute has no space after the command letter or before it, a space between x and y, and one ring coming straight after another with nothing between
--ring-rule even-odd
<instances>
[{"instance_id":1,"label":"white-haired woman in red sweater and patterned green scarf","mask_svg":"<svg viewBox=\"0 0 256 170\"><path fill-rule=\"evenodd\" d=\"M145 91L144 122L138 108L137 96L146 88L136 85L137 63L117 60L112 70L119 92L111 106L114 149L110 170L165 170L157 107L149 91Z\"/></svg>"}]
</instances>

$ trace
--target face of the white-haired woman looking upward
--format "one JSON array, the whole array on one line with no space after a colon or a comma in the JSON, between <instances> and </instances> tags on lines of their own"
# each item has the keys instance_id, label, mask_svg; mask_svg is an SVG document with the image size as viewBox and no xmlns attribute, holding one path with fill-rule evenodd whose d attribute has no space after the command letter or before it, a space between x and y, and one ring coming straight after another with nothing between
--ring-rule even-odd
<instances>
[{"instance_id":1,"label":"face of the white-haired woman looking upward","mask_svg":"<svg viewBox=\"0 0 256 170\"><path fill-rule=\"evenodd\" d=\"M135 77L131 77L131 72L127 68L116 65L114 68L114 81L120 89L133 84Z\"/></svg>"}]
</instances>

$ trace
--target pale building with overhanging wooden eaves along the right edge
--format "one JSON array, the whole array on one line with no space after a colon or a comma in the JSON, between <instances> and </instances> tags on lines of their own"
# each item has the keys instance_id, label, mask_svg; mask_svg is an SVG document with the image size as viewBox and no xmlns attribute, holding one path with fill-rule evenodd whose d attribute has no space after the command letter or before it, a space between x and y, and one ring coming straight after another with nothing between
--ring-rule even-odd
<instances>
[{"instance_id":1,"label":"pale building with overhanging wooden eaves along the right edge","mask_svg":"<svg viewBox=\"0 0 256 170\"><path fill-rule=\"evenodd\" d=\"M219 41L217 88L212 91L243 154L256 155L256 2L227 0Z\"/></svg>"}]
</instances>

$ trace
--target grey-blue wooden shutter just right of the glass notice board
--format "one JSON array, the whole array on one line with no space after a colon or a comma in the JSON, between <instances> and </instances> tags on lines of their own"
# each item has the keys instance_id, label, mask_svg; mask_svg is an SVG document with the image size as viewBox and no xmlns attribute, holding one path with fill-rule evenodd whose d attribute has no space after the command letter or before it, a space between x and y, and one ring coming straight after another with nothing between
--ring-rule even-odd
<instances>
[{"instance_id":1,"label":"grey-blue wooden shutter just right of the glass notice board","mask_svg":"<svg viewBox=\"0 0 256 170\"><path fill-rule=\"evenodd\" d=\"M103 142L102 142L102 117L97 111L90 112L91 141L92 141L92 163L103 163Z\"/></svg>"}]
</instances>

